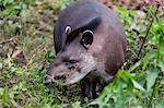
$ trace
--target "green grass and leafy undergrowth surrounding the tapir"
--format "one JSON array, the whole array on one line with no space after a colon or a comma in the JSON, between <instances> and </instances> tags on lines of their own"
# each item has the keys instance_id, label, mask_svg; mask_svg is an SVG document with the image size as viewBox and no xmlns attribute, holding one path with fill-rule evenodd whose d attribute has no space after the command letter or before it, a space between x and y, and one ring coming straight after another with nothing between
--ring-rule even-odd
<instances>
[{"instance_id":1,"label":"green grass and leafy undergrowth surrounding the tapir","mask_svg":"<svg viewBox=\"0 0 164 108\"><path fill-rule=\"evenodd\" d=\"M67 92L57 85L49 88L44 85L46 68L55 58L54 24L59 11L69 2L0 0L5 7L0 11L0 107L81 108L96 104L99 108L163 108L164 20L161 9L153 15L155 7L152 5L145 7L147 14L115 7L127 35L127 65L98 98L81 104L79 84L69 86ZM153 25L140 60L134 62L140 38L145 36L152 15ZM2 44L8 40L11 41ZM20 65L20 58L12 57L17 50L25 56L25 65Z\"/></svg>"}]
</instances>

